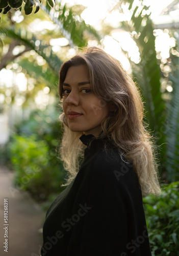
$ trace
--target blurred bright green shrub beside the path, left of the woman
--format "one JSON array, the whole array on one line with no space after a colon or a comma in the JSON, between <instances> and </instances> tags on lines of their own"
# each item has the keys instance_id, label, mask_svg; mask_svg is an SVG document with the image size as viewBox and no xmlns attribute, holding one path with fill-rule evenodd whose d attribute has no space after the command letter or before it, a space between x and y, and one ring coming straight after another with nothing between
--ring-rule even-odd
<instances>
[{"instance_id":1,"label":"blurred bright green shrub beside the path, left of the woman","mask_svg":"<svg viewBox=\"0 0 179 256\"><path fill-rule=\"evenodd\" d=\"M30 191L39 201L47 200L50 194L62 191L62 163L56 158L56 166L50 164L54 155L49 154L45 140L37 140L35 135L14 135L10 154L17 188Z\"/></svg>"}]
</instances>

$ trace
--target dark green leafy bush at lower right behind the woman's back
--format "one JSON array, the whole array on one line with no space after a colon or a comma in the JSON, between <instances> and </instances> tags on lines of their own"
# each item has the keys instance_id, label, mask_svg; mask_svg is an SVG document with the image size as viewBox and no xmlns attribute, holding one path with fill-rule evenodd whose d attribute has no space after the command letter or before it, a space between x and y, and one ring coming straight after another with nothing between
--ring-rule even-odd
<instances>
[{"instance_id":1,"label":"dark green leafy bush at lower right behind the woman's back","mask_svg":"<svg viewBox=\"0 0 179 256\"><path fill-rule=\"evenodd\" d=\"M179 255L179 181L143 199L152 256Z\"/></svg>"}]
</instances>

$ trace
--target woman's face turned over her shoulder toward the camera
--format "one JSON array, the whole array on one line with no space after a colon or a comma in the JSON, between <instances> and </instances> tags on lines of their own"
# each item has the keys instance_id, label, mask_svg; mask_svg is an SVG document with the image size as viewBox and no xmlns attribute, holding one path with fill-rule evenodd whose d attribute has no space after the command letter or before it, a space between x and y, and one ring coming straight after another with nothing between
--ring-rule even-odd
<instances>
[{"instance_id":1,"label":"woman's face turned over her shoulder toward the camera","mask_svg":"<svg viewBox=\"0 0 179 256\"><path fill-rule=\"evenodd\" d=\"M91 90L86 65L72 66L63 82L63 111L72 132L99 135L109 104Z\"/></svg>"}]
</instances>

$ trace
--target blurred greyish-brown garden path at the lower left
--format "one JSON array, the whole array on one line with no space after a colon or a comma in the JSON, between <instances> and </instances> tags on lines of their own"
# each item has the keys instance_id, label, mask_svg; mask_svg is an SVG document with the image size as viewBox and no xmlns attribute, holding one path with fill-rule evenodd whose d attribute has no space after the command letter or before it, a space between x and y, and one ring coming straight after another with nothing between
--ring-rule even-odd
<instances>
[{"instance_id":1,"label":"blurred greyish-brown garden path at the lower left","mask_svg":"<svg viewBox=\"0 0 179 256\"><path fill-rule=\"evenodd\" d=\"M45 216L26 191L14 187L13 177L13 172L0 166L0 255L39 256ZM8 198L8 226L4 225L4 198ZM8 253L4 251L7 231Z\"/></svg>"}]
</instances>

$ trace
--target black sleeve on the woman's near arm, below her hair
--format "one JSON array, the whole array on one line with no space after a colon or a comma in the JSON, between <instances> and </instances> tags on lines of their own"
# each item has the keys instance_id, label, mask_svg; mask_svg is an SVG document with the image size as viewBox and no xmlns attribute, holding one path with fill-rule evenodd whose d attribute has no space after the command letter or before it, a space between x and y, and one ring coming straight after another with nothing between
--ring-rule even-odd
<instances>
[{"instance_id":1,"label":"black sleeve on the woman's near arm, below her hair","mask_svg":"<svg viewBox=\"0 0 179 256\"><path fill-rule=\"evenodd\" d=\"M99 154L89 182L88 210L78 256L151 255L148 237L137 240L146 223L133 167L121 159L107 159Z\"/></svg>"}]
</instances>

